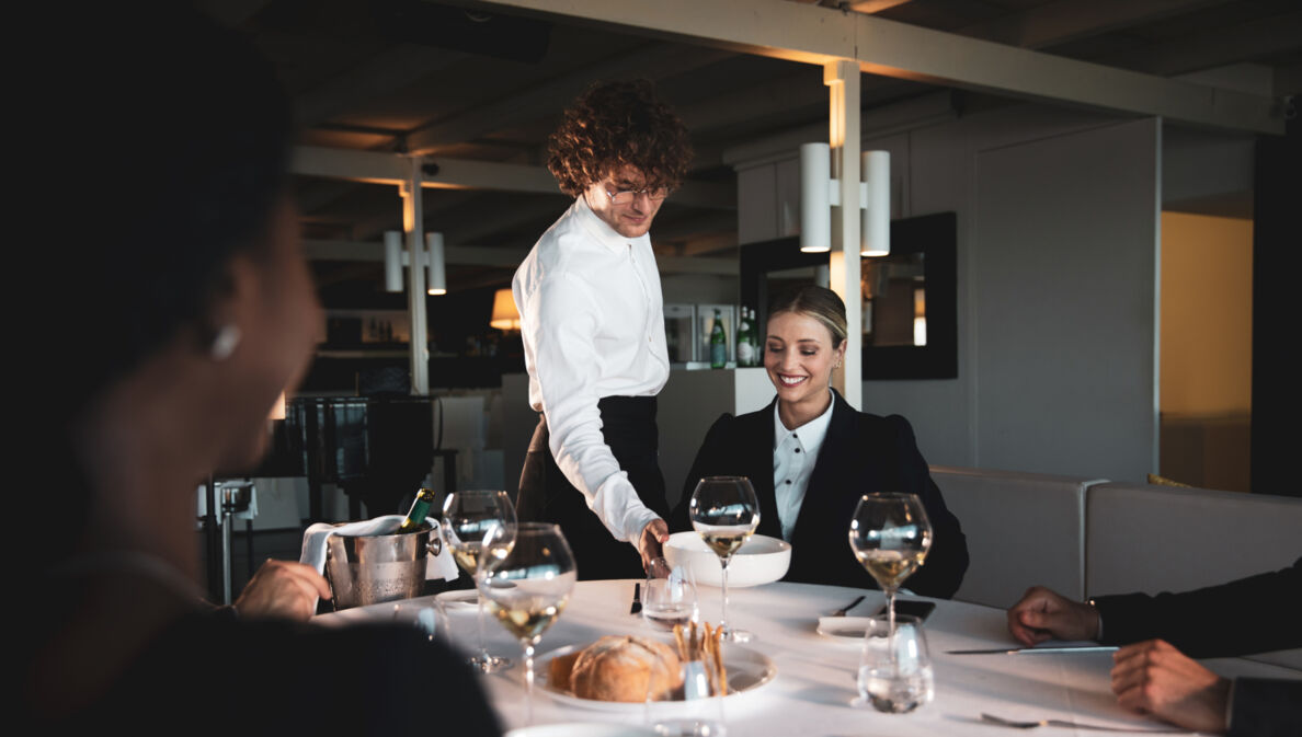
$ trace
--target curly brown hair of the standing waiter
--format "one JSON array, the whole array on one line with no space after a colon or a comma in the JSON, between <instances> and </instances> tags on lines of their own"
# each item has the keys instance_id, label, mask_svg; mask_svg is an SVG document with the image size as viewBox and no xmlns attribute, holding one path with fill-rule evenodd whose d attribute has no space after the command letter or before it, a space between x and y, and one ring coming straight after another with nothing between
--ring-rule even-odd
<instances>
[{"instance_id":1,"label":"curly brown hair of the standing waiter","mask_svg":"<svg viewBox=\"0 0 1302 737\"><path fill-rule=\"evenodd\" d=\"M647 79L592 85L548 141L547 168L570 197L625 165L646 176L646 188L673 189L690 163L687 126Z\"/></svg>"}]
</instances>

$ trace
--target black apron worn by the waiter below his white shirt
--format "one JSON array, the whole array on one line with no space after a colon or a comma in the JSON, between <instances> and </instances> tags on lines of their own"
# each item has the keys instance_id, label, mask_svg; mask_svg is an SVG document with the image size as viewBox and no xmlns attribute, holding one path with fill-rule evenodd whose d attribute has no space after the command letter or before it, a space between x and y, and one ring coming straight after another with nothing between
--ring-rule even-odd
<instances>
[{"instance_id":1,"label":"black apron worn by the waiter below his white shirt","mask_svg":"<svg viewBox=\"0 0 1302 737\"><path fill-rule=\"evenodd\" d=\"M602 413L602 436L620 469L629 474L642 504L668 520L669 504L658 462L655 397L604 397L596 408ZM519 474L519 496L516 500L519 521L560 525L574 551L581 579L644 577L637 548L611 536L605 525L587 508L583 492L574 488L556 466L548 436L547 418L539 415Z\"/></svg>"}]
</instances>

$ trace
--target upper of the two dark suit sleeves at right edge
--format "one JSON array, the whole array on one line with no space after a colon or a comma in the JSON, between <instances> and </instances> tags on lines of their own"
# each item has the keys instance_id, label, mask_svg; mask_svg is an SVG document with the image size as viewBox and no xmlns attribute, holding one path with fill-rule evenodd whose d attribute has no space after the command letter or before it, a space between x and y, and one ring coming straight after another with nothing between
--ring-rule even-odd
<instances>
[{"instance_id":1,"label":"upper of the two dark suit sleeves at right edge","mask_svg":"<svg viewBox=\"0 0 1302 737\"><path fill-rule=\"evenodd\" d=\"M1302 559L1290 568L1178 594L1099 596L1103 641L1165 639L1190 658L1302 647Z\"/></svg>"}]
</instances>

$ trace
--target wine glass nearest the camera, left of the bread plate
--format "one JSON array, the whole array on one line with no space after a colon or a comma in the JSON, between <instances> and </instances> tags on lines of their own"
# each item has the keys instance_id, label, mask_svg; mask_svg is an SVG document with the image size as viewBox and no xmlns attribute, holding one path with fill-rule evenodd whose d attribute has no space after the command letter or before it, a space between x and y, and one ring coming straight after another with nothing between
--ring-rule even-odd
<instances>
[{"instance_id":1,"label":"wine glass nearest the camera, left of the bread plate","mask_svg":"<svg viewBox=\"0 0 1302 737\"><path fill-rule=\"evenodd\" d=\"M495 529L490 538L500 534L505 531ZM574 555L561 529L542 522L516 525L514 544L479 566L479 592L488 611L519 639L523 651L526 724L534 721L534 646L565 609L577 579Z\"/></svg>"}]
</instances>

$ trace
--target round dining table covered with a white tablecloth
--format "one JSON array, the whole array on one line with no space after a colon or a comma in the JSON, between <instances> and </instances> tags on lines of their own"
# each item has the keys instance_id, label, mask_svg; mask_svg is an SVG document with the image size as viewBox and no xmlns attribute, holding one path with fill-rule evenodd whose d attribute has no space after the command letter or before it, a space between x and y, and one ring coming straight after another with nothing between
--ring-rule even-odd
<instances>
[{"instance_id":1,"label":"round dining table covered with a white tablecloth","mask_svg":"<svg viewBox=\"0 0 1302 737\"><path fill-rule=\"evenodd\" d=\"M639 615L630 613L633 579L579 582L565 611L542 635L536 647L543 661L549 651L583 646L608 634L635 634L667 638ZM721 591L699 586L700 619L719 621ZM1091 727L1167 730L1180 733L1155 719L1124 711L1109 688L1112 652L1105 650L1032 654L956 654L960 650L1016 648L1005 625L1004 609L928 599L935 611L924 622L927 645L935 672L935 698L909 714L881 714L871 706L855 704L862 641L854 637L820 634L819 617L845 607L863 595L849 616L870 616L884 603L880 591L776 582L746 589L729 589L729 625L749 630L754 637L745 645L724 645L725 663L730 648L745 648L734 656L767 658L776 677L745 693L723 699L723 716L732 736L853 736L853 734L1000 734L1013 729L988 724L982 714L1012 720L1069 720ZM320 615L323 625L350 621L419 621L436 598L408 599ZM470 652L477 642L478 624L474 591L452 591L437 596L447 613L449 639ZM904 599L922 599L902 595ZM428 617L426 617L428 619ZM516 665L483 674L484 690L506 729L525 725L523 669L519 643L491 616L484 624L486 643L495 655L512 658ZM1297 678L1297 671L1255 660L1229 658L1204 660L1223 676ZM542 684L542 669L540 669ZM553 695L535 688L533 723L618 723L644 725L644 704L585 704L581 699ZM1047 734L1100 734L1085 728L1046 727Z\"/></svg>"}]
</instances>

